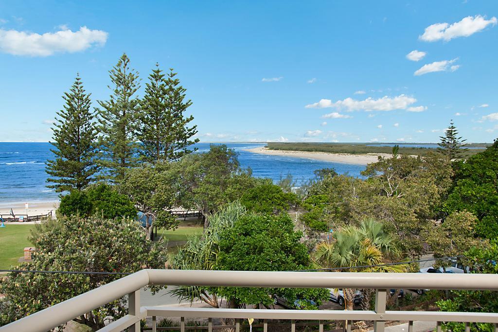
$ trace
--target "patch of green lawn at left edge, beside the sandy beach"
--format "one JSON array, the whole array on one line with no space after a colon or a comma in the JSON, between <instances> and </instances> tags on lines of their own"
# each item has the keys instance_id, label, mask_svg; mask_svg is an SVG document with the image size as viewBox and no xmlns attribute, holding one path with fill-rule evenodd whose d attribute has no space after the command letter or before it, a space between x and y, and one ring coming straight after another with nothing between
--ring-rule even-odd
<instances>
[{"instance_id":1,"label":"patch of green lawn at left edge, beside the sandy beach","mask_svg":"<svg viewBox=\"0 0 498 332\"><path fill-rule=\"evenodd\" d=\"M31 246L27 237L35 225L5 225L0 228L0 269L6 270L18 264L24 256L24 247Z\"/></svg>"}]
</instances>

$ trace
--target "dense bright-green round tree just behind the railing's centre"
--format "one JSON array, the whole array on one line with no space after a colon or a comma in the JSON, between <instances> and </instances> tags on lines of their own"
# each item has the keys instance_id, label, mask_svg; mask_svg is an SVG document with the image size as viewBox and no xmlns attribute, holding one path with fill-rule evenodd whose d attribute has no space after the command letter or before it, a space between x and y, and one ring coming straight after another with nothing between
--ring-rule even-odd
<instances>
[{"instance_id":1,"label":"dense bright-green round tree just behind the railing's centre","mask_svg":"<svg viewBox=\"0 0 498 332\"><path fill-rule=\"evenodd\" d=\"M215 269L239 271L294 271L309 266L306 246L300 242L302 234L294 230L288 215L247 215L221 233ZM326 290L267 289L223 287L219 294L236 305L269 306L274 298L287 302L305 298L320 304L327 298Z\"/></svg>"}]
</instances>

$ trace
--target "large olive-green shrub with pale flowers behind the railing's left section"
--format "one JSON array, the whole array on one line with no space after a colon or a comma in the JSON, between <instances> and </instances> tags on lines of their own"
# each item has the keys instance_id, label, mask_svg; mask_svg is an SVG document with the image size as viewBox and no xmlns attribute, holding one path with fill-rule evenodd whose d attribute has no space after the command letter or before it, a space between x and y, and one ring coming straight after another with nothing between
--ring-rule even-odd
<instances>
[{"instance_id":1,"label":"large olive-green shrub with pale flowers behind the railing's left section","mask_svg":"<svg viewBox=\"0 0 498 332\"><path fill-rule=\"evenodd\" d=\"M164 243L146 241L136 221L91 217L63 218L45 227L33 243L33 262L18 269L42 271L135 272L144 266L164 268ZM0 284L0 325L95 289L121 275L10 273ZM123 317L126 298L98 308L74 321L93 331Z\"/></svg>"}]
</instances>

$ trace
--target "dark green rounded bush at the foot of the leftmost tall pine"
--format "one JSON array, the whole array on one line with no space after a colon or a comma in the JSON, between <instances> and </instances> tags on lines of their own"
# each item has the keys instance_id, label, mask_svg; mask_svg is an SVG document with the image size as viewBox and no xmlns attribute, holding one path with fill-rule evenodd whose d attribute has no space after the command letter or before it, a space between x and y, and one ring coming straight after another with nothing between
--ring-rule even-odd
<instances>
[{"instance_id":1,"label":"dark green rounded bush at the foot of the leftmost tall pine","mask_svg":"<svg viewBox=\"0 0 498 332\"><path fill-rule=\"evenodd\" d=\"M67 217L99 215L114 219L135 218L137 210L127 196L118 193L111 185L100 183L62 196L57 212Z\"/></svg>"}]
</instances>

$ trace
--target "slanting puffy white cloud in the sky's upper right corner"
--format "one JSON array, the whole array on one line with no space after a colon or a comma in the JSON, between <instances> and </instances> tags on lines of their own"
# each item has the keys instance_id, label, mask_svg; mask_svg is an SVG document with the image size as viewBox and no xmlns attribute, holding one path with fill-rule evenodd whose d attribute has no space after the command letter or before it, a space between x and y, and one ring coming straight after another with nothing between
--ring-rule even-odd
<instances>
[{"instance_id":1,"label":"slanting puffy white cloud in the sky's upper right corner","mask_svg":"<svg viewBox=\"0 0 498 332\"><path fill-rule=\"evenodd\" d=\"M457 37L468 37L476 32L484 30L488 25L495 26L498 20L496 17L486 19L485 16L467 16L460 22L453 24L436 23L425 28L424 34L418 38L424 41L451 40Z\"/></svg>"}]
</instances>

